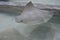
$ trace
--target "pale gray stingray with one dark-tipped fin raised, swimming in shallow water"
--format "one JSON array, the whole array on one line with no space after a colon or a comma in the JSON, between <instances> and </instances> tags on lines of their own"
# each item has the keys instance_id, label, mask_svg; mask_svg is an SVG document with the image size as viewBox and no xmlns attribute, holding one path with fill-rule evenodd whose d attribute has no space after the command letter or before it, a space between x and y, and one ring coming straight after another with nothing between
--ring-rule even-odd
<instances>
[{"instance_id":1,"label":"pale gray stingray with one dark-tipped fin raised, swimming in shallow water","mask_svg":"<svg viewBox=\"0 0 60 40\"><path fill-rule=\"evenodd\" d=\"M52 12L36 8L32 2L27 3L21 15L16 17L16 22L29 25L47 22L53 16Z\"/></svg>"}]
</instances>

